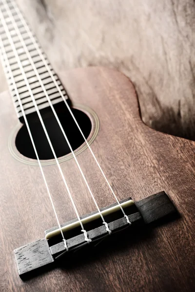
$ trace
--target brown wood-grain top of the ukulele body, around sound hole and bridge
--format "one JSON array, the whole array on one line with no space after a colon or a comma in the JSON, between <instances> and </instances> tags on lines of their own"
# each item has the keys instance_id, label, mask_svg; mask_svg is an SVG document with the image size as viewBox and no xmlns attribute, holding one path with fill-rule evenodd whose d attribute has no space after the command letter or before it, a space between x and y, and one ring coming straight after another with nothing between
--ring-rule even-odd
<instances>
[{"instance_id":1,"label":"brown wood-grain top of the ukulele body, around sound hole and bridge","mask_svg":"<svg viewBox=\"0 0 195 292\"><path fill-rule=\"evenodd\" d=\"M181 218L151 233L110 242L81 262L22 281L13 250L42 238L56 225L38 166L22 164L8 149L17 121L8 94L0 95L0 291L194 291L195 142L156 132L139 115L131 82L103 68L77 69L62 81L75 103L96 111L100 130L92 149L119 200L135 201L165 190ZM78 155L99 207L115 200L88 150ZM61 164L79 215L96 208L71 159ZM75 218L56 165L44 172L59 221Z\"/></svg>"}]
</instances>

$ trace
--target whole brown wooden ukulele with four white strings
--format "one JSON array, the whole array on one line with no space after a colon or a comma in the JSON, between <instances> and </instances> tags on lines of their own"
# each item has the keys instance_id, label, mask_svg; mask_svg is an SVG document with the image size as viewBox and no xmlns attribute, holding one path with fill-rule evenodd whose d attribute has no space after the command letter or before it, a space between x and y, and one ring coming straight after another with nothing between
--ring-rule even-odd
<instances>
[{"instance_id":1,"label":"whole brown wooden ukulele with four white strings","mask_svg":"<svg viewBox=\"0 0 195 292\"><path fill-rule=\"evenodd\" d=\"M14 0L0 51L0 291L194 291L195 142L121 73L59 79Z\"/></svg>"}]
</instances>

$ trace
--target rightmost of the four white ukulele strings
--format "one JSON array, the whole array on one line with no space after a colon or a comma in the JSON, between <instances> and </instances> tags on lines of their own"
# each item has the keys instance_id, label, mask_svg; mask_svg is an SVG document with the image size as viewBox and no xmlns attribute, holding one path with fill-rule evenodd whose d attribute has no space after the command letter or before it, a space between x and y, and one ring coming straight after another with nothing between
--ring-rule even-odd
<instances>
[{"instance_id":1,"label":"rightmost of the four white ukulele strings","mask_svg":"<svg viewBox=\"0 0 195 292\"><path fill-rule=\"evenodd\" d=\"M85 136L84 136L84 134L83 134L83 132L82 132L80 126L78 125L78 122L77 122L77 120L76 120L74 114L72 113L71 108L69 107L69 105L68 105L66 99L64 98L63 93L62 93L61 89L59 88L59 85L58 85L58 83L56 82L56 79L55 79L55 77L54 77L52 71L50 70L50 68L49 68L49 66L48 66L48 64L47 64L47 62L46 62L46 60L45 60L45 57L44 57L44 55L42 54L42 52L41 52L41 50L40 50L40 48L39 48L39 46L38 46L38 44L37 44L37 42L36 42L36 40L35 40L33 34L32 34L32 32L31 32L31 30L29 29L28 25L26 24L26 22L25 22L25 20L24 20L24 18L23 18L23 16L22 16L22 14L20 13L20 10L19 10L19 8L17 7L17 5L16 5L15 2L14 2L14 4L12 3L12 6L15 7L15 9L18 11L17 14L18 14L18 16L19 16L21 22L23 23L23 26L25 27L26 32L28 32L29 37L31 38L31 40L33 41L33 43L34 43L34 45L35 45L37 51L39 52L39 56L41 57L41 59L42 59L44 65L45 65L45 67L47 68L47 71L50 73L50 76L51 76L51 78L52 78L54 84L56 85L56 87L57 87L57 89L58 89L58 91L59 91L59 93L60 93L60 95L61 95L61 98L63 99L63 101L64 101L64 103L65 103L67 109L69 110L69 112L70 112L70 114L71 114L71 116L72 116L72 118L73 118L73 120L74 120L74 122L76 123L79 132L81 133L81 135L82 135L82 137L83 137L83 139L84 139L84 141L85 141L87 147L89 148L89 150L90 150L90 152L91 152L91 154L92 154L94 160L96 161L96 163L97 163L97 165L98 165L98 168L99 168L101 174L103 175L103 177L104 177L104 179L105 179L105 181L106 181L108 187L110 188L110 190L111 190L113 196L115 197L115 199L116 199L116 201L117 201L117 204L120 206L120 209L121 209L121 211L122 211L124 217L127 219L127 222L131 225L131 222L129 221L128 216L125 214L124 209L122 208L120 202L118 201L117 196L116 196L116 194L115 194L115 192L114 192L114 190L113 190L111 184L108 182L108 180L107 180L107 178L106 178L106 176L105 176L105 174L104 174L104 172L103 172L103 170L102 170L100 164L98 163L98 160L97 160L97 158L96 158L96 156L95 156L93 150L91 149L91 146L90 146L89 143L87 142L87 139L85 138Z\"/></svg>"}]
</instances>

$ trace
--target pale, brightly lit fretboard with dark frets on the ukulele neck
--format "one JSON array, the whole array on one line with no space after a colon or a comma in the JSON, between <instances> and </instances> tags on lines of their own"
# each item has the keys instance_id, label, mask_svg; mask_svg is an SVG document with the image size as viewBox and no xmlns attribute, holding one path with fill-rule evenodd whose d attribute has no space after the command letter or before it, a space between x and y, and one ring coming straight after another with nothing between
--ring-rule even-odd
<instances>
[{"instance_id":1,"label":"pale, brightly lit fretboard with dark frets on the ukulele neck","mask_svg":"<svg viewBox=\"0 0 195 292\"><path fill-rule=\"evenodd\" d=\"M62 96L68 98L15 0L0 0L0 52L19 118L22 117L22 112L17 92L26 115L36 111L32 94L39 110L49 106L48 97L52 104L61 102Z\"/></svg>"}]
</instances>

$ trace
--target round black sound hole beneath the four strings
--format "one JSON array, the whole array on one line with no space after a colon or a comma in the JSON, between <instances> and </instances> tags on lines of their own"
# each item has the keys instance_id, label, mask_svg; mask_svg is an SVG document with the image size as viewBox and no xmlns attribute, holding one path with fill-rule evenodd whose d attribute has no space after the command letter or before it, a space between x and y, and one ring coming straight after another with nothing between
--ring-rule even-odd
<instances>
[{"instance_id":1,"label":"round black sound hole beneath the four strings","mask_svg":"<svg viewBox=\"0 0 195 292\"><path fill-rule=\"evenodd\" d=\"M63 104L55 106L55 109L73 150L77 149L81 144L83 144L84 139L80 134L70 112L64 107ZM90 118L81 110L72 109L72 112L85 138L87 138L92 128ZM70 153L71 150L63 136L61 129L59 128L59 124L52 110L47 108L41 110L40 113L51 143L54 147L56 156L61 157ZM53 159L54 155L52 153L51 147L49 146L37 113L33 113L30 117L28 117L28 123L39 155L39 159ZM16 147L22 155L28 158L37 159L26 125L23 125L17 134Z\"/></svg>"}]
</instances>

